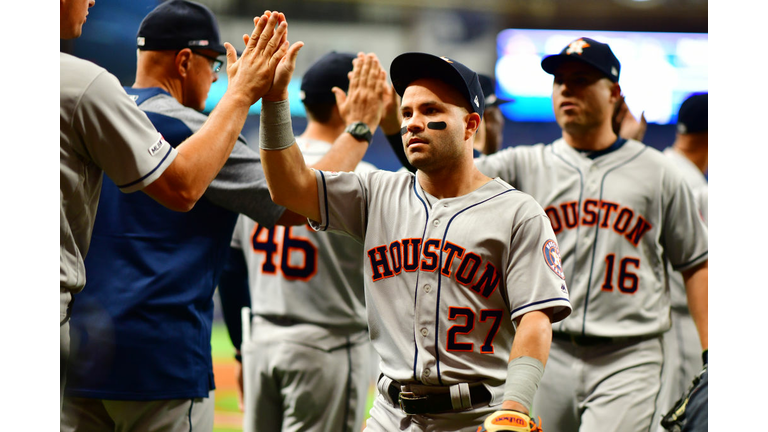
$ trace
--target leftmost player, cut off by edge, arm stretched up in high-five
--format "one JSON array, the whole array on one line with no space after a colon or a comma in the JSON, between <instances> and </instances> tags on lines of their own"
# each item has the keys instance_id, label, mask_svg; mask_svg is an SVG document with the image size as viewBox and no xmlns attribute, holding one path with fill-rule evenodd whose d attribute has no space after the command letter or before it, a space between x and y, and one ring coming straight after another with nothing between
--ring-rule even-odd
<instances>
[{"instance_id":1,"label":"leftmost player, cut off by edge, arm stretched up in high-five","mask_svg":"<svg viewBox=\"0 0 768 432\"><path fill-rule=\"evenodd\" d=\"M60 1L60 37L80 36L93 0ZM256 23L256 21L254 21ZM276 21L275 21L276 23ZM85 258L99 203L102 172L122 192L142 190L163 206L195 205L232 150L248 108L269 90L287 47L285 26L255 26L240 59L227 44L229 87L210 127L173 148L127 97L117 78L93 63L60 54L60 352L63 403L69 357L69 317L74 295L85 286ZM265 36L257 44L259 36ZM267 36L275 38L272 45Z\"/></svg>"}]
</instances>

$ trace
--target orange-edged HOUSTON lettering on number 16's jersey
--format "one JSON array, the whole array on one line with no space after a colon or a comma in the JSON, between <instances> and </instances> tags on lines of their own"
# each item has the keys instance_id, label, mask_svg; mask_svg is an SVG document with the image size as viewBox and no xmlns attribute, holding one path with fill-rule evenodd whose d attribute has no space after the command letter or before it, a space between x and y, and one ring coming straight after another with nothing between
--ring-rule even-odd
<instances>
[{"instance_id":1,"label":"orange-edged HOUSTON lettering on number 16's jersey","mask_svg":"<svg viewBox=\"0 0 768 432\"><path fill-rule=\"evenodd\" d=\"M551 205L544 211L549 216L555 235L564 229L573 229L579 225L597 225L598 228L612 229L617 234L623 235L627 241L637 247L643 235L652 228L642 215L631 208L605 200L584 200L581 209L578 201L569 201Z\"/></svg>"}]
</instances>

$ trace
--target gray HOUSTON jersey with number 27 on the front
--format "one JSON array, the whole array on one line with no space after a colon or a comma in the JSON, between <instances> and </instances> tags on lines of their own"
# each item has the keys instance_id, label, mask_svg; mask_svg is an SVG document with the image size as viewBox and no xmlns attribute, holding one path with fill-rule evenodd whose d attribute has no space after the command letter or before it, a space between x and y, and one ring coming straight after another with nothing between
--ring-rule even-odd
<instances>
[{"instance_id":1,"label":"gray HOUSTON jersey with number 27 on the front","mask_svg":"<svg viewBox=\"0 0 768 432\"><path fill-rule=\"evenodd\" d=\"M514 319L570 313L542 208L498 179L454 198L415 175L316 171L318 230L364 243L366 306L381 370L400 383L484 382L502 400Z\"/></svg>"}]
</instances>

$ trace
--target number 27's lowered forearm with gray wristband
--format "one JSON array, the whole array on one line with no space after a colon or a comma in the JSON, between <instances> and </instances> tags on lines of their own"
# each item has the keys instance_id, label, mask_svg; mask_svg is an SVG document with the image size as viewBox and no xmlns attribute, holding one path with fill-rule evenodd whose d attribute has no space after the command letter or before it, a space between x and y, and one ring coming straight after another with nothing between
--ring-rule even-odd
<instances>
[{"instance_id":1,"label":"number 27's lowered forearm with gray wristband","mask_svg":"<svg viewBox=\"0 0 768 432\"><path fill-rule=\"evenodd\" d=\"M551 343L552 325L550 323L549 315L541 311L529 312L523 315L517 326L515 339L512 343L512 350L509 354L509 361L511 363L513 360L524 357L527 357L528 359L523 359L523 364L520 366L510 364L507 376L508 384L505 387L502 409L510 409L528 414L530 404L533 400L533 394L535 394L536 388L538 388L540 379L539 374L543 372L543 367L546 365L547 358L549 357ZM533 359L533 361L531 361L531 359ZM536 361L541 364L538 366L529 364L535 363ZM520 362L518 361L518 363ZM537 368L538 370L536 370ZM518 373L525 373L528 376L522 377L522 379L521 377L513 376L515 371L518 371ZM516 388L516 385L510 385L510 383L516 382L520 383L520 388ZM510 390L513 391L510 392ZM527 396L510 396L511 393L526 393Z\"/></svg>"}]
</instances>

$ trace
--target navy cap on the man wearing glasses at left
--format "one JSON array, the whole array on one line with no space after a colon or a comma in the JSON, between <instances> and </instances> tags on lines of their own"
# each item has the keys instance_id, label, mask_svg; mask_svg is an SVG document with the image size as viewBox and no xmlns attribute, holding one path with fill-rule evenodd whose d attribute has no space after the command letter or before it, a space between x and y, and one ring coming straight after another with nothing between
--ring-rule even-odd
<instances>
[{"instance_id":1,"label":"navy cap on the man wearing glasses at left","mask_svg":"<svg viewBox=\"0 0 768 432\"><path fill-rule=\"evenodd\" d=\"M213 12L200 3L170 0L160 3L141 21L136 34L141 50L200 48L226 54Z\"/></svg>"}]
</instances>

